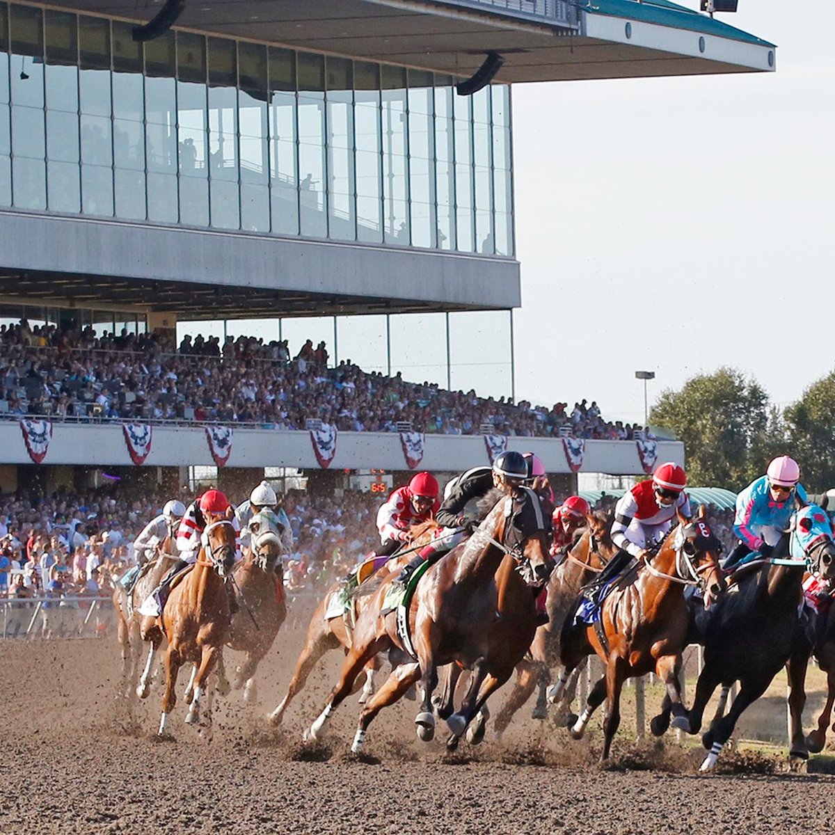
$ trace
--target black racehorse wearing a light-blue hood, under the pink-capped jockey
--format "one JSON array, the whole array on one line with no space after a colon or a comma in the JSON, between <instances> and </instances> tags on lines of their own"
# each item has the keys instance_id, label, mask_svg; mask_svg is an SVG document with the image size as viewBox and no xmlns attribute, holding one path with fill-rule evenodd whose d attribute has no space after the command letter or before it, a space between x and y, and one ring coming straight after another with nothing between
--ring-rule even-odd
<instances>
[{"instance_id":1,"label":"black racehorse wearing a light-blue hood, under the pink-capped jockey","mask_svg":"<svg viewBox=\"0 0 835 835\"><path fill-rule=\"evenodd\" d=\"M703 772L716 767L742 711L762 696L783 665L787 665L790 686L789 757L808 757L801 720L809 650L797 653L802 629L798 610L807 564L816 573L823 571L825 579L835 573L835 542L827 514L817 504L795 501L792 529L782 535L771 556L736 569L738 591L725 595L712 610L696 613L694 637L705 646L705 664L689 714L691 733L701 729L705 706L716 686L722 685L724 695L734 681L740 682L731 710L726 716L717 715L702 736L702 744L710 751L701 764Z\"/></svg>"}]
</instances>

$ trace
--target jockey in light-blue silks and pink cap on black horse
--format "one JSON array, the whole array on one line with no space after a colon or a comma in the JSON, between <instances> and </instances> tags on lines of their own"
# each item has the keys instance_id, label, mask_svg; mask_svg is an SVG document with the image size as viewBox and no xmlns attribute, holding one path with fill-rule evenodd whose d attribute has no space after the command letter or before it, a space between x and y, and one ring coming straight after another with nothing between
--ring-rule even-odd
<instances>
[{"instance_id":1,"label":"jockey in light-blue silks and pink cap on black horse","mask_svg":"<svg viewBox=\"0 0 835 835\"><path fill-rule=\"evenodd\" d=\"M774 458L766 474L752 481L736 497L733 529L739 544L728 554L724 568L735 568L751 551L768 557L795 510L794 498L807 501L800 467L787 455Z\"/></svg>"}]
</instances>

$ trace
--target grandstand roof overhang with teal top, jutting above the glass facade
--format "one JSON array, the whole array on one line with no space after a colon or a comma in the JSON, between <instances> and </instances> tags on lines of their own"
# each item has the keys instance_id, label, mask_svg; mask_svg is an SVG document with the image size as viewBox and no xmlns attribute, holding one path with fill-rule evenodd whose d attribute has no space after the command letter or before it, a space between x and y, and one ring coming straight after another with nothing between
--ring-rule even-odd
<instances>
[{"instance_id":1,"label":"grandstand roof overhang with teal top, jutting above the glass facade","mask_svg":"<svg viewBox=\"0 0 835 835\"><path fill-rule=\"evenodd\" d=\"M50 4L144 22L162 0L144 8L135 0ZM772 43L668 0L187 0L177 25L457 78L494 51L504 57L502 83L776 65Z\"/></svg>"}]
</instances>

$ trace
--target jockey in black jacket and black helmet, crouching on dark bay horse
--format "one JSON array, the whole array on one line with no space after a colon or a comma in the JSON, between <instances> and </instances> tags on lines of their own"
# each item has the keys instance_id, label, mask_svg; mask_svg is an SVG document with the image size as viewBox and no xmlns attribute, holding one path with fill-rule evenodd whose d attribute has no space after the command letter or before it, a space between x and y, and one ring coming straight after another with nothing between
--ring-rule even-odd
<instances>
[{"instance_id":1,"label":"jockey in black jacket and black helmet, crouching on dark bay horse","mask_svg":"<svg viewBox=\"0 0 835 835\"><path fill-rule=\"evenodd\" d=\"M520 453L513 450L500 453L492 467L476 467L453 478L444 488L443 504L435 519L443 530L430 544L421 549L412 561L397 575L395 582L405 584L412 571L426 559L433 564L443 554L451 551L464 537L472 534L481 524L482 514L478 500L494 487L510 495L528 478L528 464Z\"/></svg>"}]
</instances>

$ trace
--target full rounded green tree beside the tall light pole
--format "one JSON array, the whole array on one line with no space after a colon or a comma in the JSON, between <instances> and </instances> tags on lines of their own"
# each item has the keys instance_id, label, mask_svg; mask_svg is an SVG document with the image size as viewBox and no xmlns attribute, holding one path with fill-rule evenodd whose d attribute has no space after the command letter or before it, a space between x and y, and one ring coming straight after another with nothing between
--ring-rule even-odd
<instances>
[{"instance_id":1,"label":"full rounded green tree beside the tall light pole","mask_svg":"<svg viewBox=\"0 0 835 835\"><path fill-rule=\"evenodd\" d=\"M739 490L765 472L782 443L782 423L765 389L736 368L691 377L681 391L667 389L650 423L684 442L687 481Z\"/></svg>"}]
</instances>

